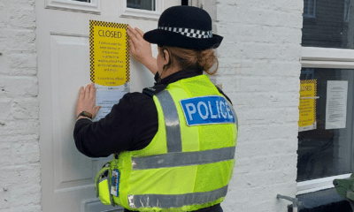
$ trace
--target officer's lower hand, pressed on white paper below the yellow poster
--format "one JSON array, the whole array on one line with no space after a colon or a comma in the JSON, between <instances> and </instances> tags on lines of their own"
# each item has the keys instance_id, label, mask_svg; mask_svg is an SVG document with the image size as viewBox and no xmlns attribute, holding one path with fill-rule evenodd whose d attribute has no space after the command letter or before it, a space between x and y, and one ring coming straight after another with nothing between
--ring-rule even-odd
<instances>
[{"instance_id":1,"label":"officer's lower hand, pressed on white paper below the yellow poster","mask_svg":"<svg viewBox=\"0 0 354 212\"><path fill-rule=\"evenodd\" d=\"M80 88L79 99L76 104L76 117L82 112L86 111L92 114L92 118L96 117L96 114L101 106L96 107L96 87L92 82L85 88Z\"/></svg>"}]
</instances>

